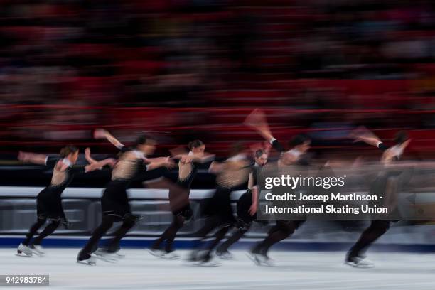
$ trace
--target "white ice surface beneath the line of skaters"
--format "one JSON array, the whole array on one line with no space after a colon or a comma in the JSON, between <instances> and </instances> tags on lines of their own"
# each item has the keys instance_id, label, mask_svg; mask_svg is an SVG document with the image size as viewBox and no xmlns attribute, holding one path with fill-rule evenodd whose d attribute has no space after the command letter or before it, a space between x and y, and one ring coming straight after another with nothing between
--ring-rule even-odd
<instances>
[{"instance_id":1,"label":"white ice surface beneath the line of skaters","mask_svg":"<svg viewBox=\"0 0 435 290\"><path fill-rule=\"evenodd\" d=\"M242 250L218 267L198 267L183 259L152 257L144 249L123 249L117 263L77 264L78 249L48 248L45 257L16 257L0 249L0 274L49 274L50 286L36 289L435 289L435 254L370 254L372 269L343 264L344 252L271 252L274 267L254 265ZM187 252L180 251L184 258ZM13 286L11 289L31 289ZM9 286L4 287L9 289Z\"/></svg>"}]
</instances>

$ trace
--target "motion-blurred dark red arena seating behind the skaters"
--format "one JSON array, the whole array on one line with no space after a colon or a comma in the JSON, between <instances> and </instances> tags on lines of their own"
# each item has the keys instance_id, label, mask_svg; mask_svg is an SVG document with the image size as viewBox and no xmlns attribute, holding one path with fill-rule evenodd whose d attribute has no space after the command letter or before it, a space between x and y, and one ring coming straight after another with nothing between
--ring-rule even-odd
<instances>
[{"instance_id":1,"label":"motion-blurred dark red arena seating behind the skaters","mask_svg":"<svg viewBox=\"0 0 435 290\"><path fill-rule=\"evenodd\" d=\"M92 146L159 136L159 153L203 139L225 155L261 139L242 124L267 112L279 139L314 151L350 144L365 125L434 151L431 1L0 1L0 151ZM358 149L358 152L353 152ZM418 154L416 153L418 152Z\"/></svg>"}]
</instances>

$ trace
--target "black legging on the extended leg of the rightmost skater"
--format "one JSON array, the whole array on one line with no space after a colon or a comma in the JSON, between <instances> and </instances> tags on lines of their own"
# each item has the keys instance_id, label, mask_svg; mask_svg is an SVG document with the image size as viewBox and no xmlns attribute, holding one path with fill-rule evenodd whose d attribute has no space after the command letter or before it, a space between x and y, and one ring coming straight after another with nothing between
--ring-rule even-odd
<instances>
[{"instance_id":1,"label":"black legging on the extended leg of the rightmost skater","mask_svg":"<svg viewBox=\"0 0 435 290\"><path fill-rule=\"evenodd\" d=\"M360 256L361 252L372 245L372 243L380 236L384 235L389 228L389 220L372 220L370 226L367 227L363 234L361 234L358 241L355 242L355 245L350 248L350 251L348 252L348 260Z\"/></svg>"}]
</instances>

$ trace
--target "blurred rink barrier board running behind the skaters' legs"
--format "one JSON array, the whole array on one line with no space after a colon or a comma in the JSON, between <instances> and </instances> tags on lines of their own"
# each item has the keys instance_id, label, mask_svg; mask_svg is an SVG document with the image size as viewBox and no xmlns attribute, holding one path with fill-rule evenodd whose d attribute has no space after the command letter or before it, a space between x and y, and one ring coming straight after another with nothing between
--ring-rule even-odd
<instances>
[{"instance_id":1,"label":"blurred rink barrier board running behind the skaters' legs","mask_svg":"<svg viewBox=\"0 0 435 290\"><path fill-rule=\"evenodd\" d=\"M36 195L42 188L0 187L0 246L14 247L23 239L28 227L36 220ZM68 220L73 223L68 230L59 228L44 240L48 247L81 247L101 219L100 196L102 188L67 188L63 193L63 206ZM200 208L213 190L191 190L190 199L196 219L182 228L176 239L176 248L192 246L194 232L203 225L199 218ZM237 200L243 191L232 193ZM144 215L122 241L124 247L148 247L152 240L171 222L168 206L168 190L129 190L131 209ZM235 203L233 203L235 206ZM357 224L357 225L355 225ZM306 222L291 239L274 246L274 249L340 251L358 239L366 222ZM117 227L114 225L113 229ZM254 223L245 238L235 247L251 247L261 240L269 226ZM435 225L404 225L399 222L380 238L373 248L381 251L434 252Z\"/></svg>"}]
</instances>

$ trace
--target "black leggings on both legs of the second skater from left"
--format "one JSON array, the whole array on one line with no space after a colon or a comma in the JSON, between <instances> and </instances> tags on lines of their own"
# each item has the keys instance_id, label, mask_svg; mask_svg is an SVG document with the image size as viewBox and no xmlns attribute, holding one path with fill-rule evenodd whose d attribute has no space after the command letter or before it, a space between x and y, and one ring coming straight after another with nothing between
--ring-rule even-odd
<instances>
[{"instance_id":1,"label":"black leggings on both legs of the second skater from left","mask_svg":"<svg viewBox=\"0 0 435 290\"><path fill-rule=\"evenodd\" d=\"M98 246L98 242L103 235L112 227L116 217L114 215L103 215L102 222L100 225L92 232L90 239L87 241L85 247L79 253L79 260L89 259L90 254L95 252ZM107 245L107 252L117 252L119 249L119 241L127 234L127 232L135 224L134 216L127 215L122 221L121 227L114 232L114 238Z\"/></svg>"}]
</instances>

